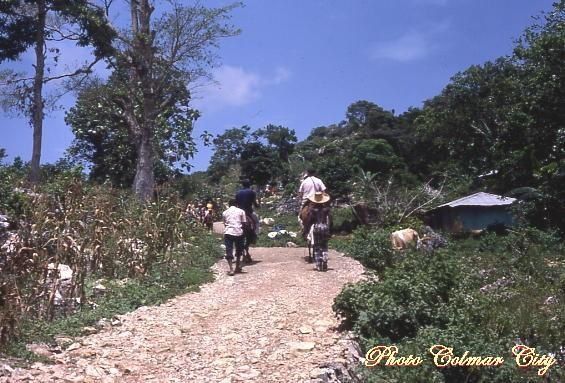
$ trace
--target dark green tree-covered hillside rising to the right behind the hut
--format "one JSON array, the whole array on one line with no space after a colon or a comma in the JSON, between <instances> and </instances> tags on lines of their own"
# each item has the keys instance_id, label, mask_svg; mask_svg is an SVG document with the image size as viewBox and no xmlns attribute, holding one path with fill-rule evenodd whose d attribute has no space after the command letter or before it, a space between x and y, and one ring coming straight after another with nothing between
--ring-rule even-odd
<instances>
[{"instance_id":1,"label":"dark green tree-covered hillside rising to the right behind the hut","mask_svg":"<svg viewBox=\"0 0 565 383\"><path fill-rule=\"evenodd\" d=\"M434 203L529 188L536 193L530 222L564 233L564 10L555 3L511 56L457 73L422 109L395 116L370 101L352 103L345 120L297 143L291 174L315 168L332 197L366 203L383 226L431 207L429 192L444 180ZM423 182L428 190L417 190Z\"/></svg>"}]
</instances>

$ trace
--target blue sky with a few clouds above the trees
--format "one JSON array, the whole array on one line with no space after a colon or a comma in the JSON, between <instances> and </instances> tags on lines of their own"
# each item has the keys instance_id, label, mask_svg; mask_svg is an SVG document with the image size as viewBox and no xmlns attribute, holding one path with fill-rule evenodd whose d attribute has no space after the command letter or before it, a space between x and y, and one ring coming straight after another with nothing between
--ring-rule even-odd
<instances>
[{"instance_id":1,"label":"blue sky with a few clouds above the trees","mask_svg":"<svg viewBox=\"0 0 565 383\"><path fill-rule=\"evenodd\" d=\"M118 0L121 2L123 0ZM159 2L158 2L159 3ZM207 1L224 5L226 1ZM241 35L222 41L217 84L200 88L202 111L195 137L207 130L267 124L295 129L304 139L337 123L347 106L369 100L396 114L419 107L473 64L511 53L532 16L551 0L248 0L233 11ZM86 55L63 52L72 65ZM18 68L29 66L25 55ZM12 64L13 65L13 64ZM62 65L60 65L61 67ZM6 67L2 65L2 67ZM60 158L72 141L63 121L72 106L45 120L42 162ZM9 159L31 157L32 131L21 118L0 115L0 148ZM199 145L195 170L208 166L211 149Z\"/></svg>"}]
</instances>

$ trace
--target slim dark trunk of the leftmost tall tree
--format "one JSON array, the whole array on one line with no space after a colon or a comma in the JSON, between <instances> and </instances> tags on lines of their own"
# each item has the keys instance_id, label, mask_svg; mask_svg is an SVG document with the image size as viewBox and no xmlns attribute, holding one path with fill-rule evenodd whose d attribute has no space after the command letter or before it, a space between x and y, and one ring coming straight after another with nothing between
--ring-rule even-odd
<instances>
[{"instance_id":1,"label":"slim dark trunk of the leftmost tall tree","mask_svg":"<svg viewBox=\"0 0 565 383\"><path fill-rule=\"evenodd\" d=\"M31 104L31 122L33 125L33 149L29 180L39 182L39 164L41 161L41 140L43 136L43 80L45 72L45 19L47 7L45 0L37 0L37 34L35 40L35 77Z\"/></svg>"}]
</instances>

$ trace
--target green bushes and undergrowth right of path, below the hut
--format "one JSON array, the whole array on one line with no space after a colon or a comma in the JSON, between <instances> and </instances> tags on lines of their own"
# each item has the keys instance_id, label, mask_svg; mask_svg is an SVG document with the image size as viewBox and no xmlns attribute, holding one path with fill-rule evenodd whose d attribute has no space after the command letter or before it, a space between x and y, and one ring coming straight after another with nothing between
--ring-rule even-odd
<instances>
[{"instance_id":1,"label":"green bushes and undergrowth right of path, below the hut","mask_svg":"<svg viewBox=\"0 0 565 383\"><path fill-rule=\"evenodd\" d=\"M372 247L371 236L365 241ZM366 257L361 238L351 246ZM380 281L349 285L334 310L358 334L365 351L395 344L399 355L419 355L413 368L363 367L367 382L538 382L537 369L520 369L515 344L552 353L565 362L565 260L563 244L551 233L519 228L507 236L454 242L431 257L406 252ZM378 253L374 255L378 256ZM455 355L496 355L500 367L437 368L430 346L453 347ZM558 365L552 381L565 378Z\"/></svg>"}]
</instances>

